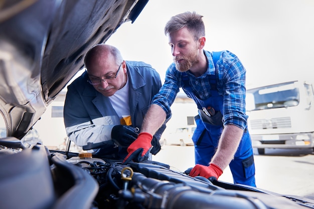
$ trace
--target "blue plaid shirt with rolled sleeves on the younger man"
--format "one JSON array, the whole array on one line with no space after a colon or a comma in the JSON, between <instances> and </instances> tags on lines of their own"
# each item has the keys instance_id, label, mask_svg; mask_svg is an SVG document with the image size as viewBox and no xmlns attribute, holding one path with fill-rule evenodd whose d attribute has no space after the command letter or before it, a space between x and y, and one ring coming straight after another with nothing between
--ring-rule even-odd
<instances>
[{"instance_id":1,"label":"blue plaid shirt with rolled sleeves on the younger man","mask_svg":"<svg viewBox=\"0 0 314 209\"><path fill-rule=\"evenodd\" d=\"M187 71L192 92L202 100L211 96L208 76L215 75L212 53L204 51L204 54L208 60L207 71L197 78ZM234 124L244 130L247 126L247 115L245 114L246 70L237 56L229 51L221 52L216 67L218 72L217 91L219 95L223 96L224 125ZM170 106L175 101L181 87L181 74L172 63L167 69L164 85L152 101L152 104L157 104L164 109L167 118L171 117Z\"/></svg>"}]
</instances>

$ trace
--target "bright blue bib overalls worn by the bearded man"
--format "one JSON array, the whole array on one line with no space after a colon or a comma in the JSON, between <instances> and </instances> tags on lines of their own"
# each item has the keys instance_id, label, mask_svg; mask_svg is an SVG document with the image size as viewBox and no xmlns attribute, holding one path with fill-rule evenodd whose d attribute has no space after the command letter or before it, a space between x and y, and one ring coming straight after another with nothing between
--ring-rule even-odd
<instances>
[{"instance_id":1,"label":"bright blue bib overalls worn by the bearded man","mask_svg":"<svg viewBox=\"0 0 314 209\"><path fill-rule=\"evenodd\" d=\"M223 130L222 124L222 110L223 110L223 96L218 94L217 88L211 88L211 97L206 100L199 99L188 84L186 73L183 73L181 87L184 92L192 98L199 109L199 115L195 117L196 130L193 134L193 142L195 146L195 163L201 165L209 165L215 151L218 147L218 141ZM216 76L211 75L211 83L216 84ZM212 81L213 80L213 81ZM215 85L212 85L215 86ZM216 114L211 117L215 125L205 122L202 114L203 107L214 108ZM203 115L203 117L202 117ZM216 120L216 121L215 121ZM219 121L220 120L220 121ZM245 129L239 147L234 155L234 159L229 164L232 172L234 183L241 183L245 185L255 185L255 165L253 158L253 149L251 145L251 138L247 129Z\"/></svg>"}]
</instances>

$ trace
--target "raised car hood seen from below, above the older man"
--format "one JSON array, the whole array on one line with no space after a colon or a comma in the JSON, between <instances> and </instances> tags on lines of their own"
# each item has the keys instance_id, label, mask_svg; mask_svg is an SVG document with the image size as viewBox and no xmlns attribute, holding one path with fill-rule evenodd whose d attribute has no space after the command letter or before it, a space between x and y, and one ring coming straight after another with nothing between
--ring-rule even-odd
<instances>
[{"instance_id":1,"label":"raised car hood seen from below, above the older man","mask_svg":"<svg viewBox=\"0 0 314 209\"><path fill-rule=\"evenodd\" d=\"M71 78L148 0L8 0L0 5L0 111L21 139Z\"/></svg>"}]
</instances>

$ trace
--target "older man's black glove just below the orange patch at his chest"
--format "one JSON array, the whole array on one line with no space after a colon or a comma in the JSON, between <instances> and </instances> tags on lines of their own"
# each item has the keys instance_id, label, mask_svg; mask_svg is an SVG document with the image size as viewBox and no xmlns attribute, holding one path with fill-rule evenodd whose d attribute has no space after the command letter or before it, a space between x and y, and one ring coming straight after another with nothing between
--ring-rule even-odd
<instances>
[{"instance_id":1,"label":"older man's black glove just below the orange patch at his chest","mask_svg":"<svg viewBox=\"0 0 314 209\"><path fill-rule=\"evenodd\" d=\"M126 125L113 126L111 131L112 140L121 147L128 147L138 134L134 131L134 127Z\"/></svg>"}]
</instances>

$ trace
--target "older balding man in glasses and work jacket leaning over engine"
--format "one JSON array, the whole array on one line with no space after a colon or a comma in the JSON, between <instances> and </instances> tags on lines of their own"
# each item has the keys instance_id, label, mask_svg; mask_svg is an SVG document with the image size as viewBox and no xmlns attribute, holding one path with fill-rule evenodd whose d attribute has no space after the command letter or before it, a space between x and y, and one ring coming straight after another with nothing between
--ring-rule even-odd
<instances>
[{"instance_id":1,"label":"older balding man in glasses and work jacket leaning over engine","mask_svg":"<svg viewBox=\"0 0 314 209\"><path fill-rule=\"evenodd\" d=\"M124 61L117 48L105 44L93 47L84 63L87 70L68 86L67 135L79 146L98 145L92 150L97 156L123 159L161 88L160 76L148 64ZM164 123L154 134L152 154L159 152L165 128Z\"/></svg>"}]
</instances>

